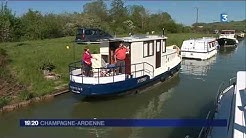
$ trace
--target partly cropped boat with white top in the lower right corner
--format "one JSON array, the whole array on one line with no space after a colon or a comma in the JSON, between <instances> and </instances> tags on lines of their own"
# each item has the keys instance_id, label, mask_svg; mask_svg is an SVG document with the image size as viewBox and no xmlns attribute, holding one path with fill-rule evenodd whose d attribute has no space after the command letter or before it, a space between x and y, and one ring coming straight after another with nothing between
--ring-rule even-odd
<instances>
[{"instance_id":1,"label":"partly cropped boat with white top in the lower right corner","mask_svg":"<svg viewBox=\"0 0 246 138\"><path fill-rule=\"evenodd\" d=\"M238 71L237 76L230 79L229 86L221 90L222 84L218 89L213 119L226 119L227 126L203 128L199 137L206 134L207 138L245 138L246 71Z\"/></svg>"}]
</instances>

